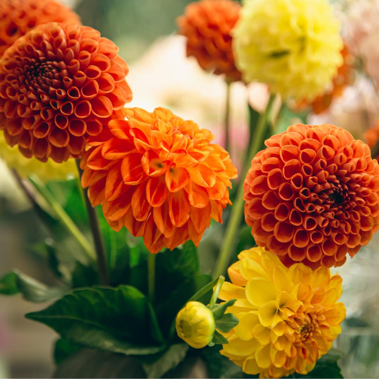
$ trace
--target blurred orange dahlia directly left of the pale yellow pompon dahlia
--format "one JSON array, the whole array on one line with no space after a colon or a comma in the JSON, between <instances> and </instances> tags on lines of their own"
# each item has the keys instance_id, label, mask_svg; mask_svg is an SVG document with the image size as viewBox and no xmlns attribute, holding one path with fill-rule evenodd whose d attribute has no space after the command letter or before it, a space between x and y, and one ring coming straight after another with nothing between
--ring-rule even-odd
<instances>
[{"instance_id":1,"label":"blurred orange dahlia directly left of the pale yellow pompon dahlia","mask_svg":"<svg viewBox=\"0 0 379 379\"><path fill-rule=\"evenodd\" d=\"M234 65L230 31L238 20L240 4L232 0L201 0L186 6L178 17L178 33L187 37L187 56L193 55L206 71L241 79Z\"/></svg>"}]
</instances>

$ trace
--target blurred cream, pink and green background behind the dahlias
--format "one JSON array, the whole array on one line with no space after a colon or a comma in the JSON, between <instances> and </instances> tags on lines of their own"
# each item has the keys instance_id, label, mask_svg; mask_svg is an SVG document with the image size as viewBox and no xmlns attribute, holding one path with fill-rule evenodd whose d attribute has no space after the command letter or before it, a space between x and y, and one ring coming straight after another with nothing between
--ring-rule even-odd
<instances>
[{"instance_id":1,"label":"blurred cream, pink and green background behind the dahlias","mask_svg":"<svg viewBox=\"0 0 379 379\"><path fill-rule=\"evenodd\" d=\"M175 18L183 13L188 0L66 0L65 3L75 9L84 25L96 28L120 47L120 55L130 67L127 81L133 90L131 106L149 111L155 106L167 106L179 116L210 129L216 143L224 143L225 83L221 77L203 72L194 58L186 58L185 40L175 35ZM364 139L366 130L379 118L375 86L379 76L379 4L376 0L334 3L343 22L344 37L359 50L357 55L365 57L366 70L356 74L354 83L344 89L327 111L310 114L308 122L333 123ZM258 84L246 89L241 83L233 83L231 100L231 154L238 165L248 140L246 102L261 110L267 101L267 89ZM297 121L291 114L288 116L288 124ZM220 233L217 226L207 230L200 254L219 239ZM17 267L51 284L52 276L38 254L38 243L46 238L47 231L11 172L0 162L0 276ZM338 270L344 278L342 301L348 313L336 347L346 353L340 361L346 378L379 377L378 246L379 233L354 260L348 259ZM210 269L207 261L202 265L204 271ZM26 302L20 296L0 298L0 378L51 377L56 335L23 317L40 308L41 305ZM203 374L201 370L194 371L193 377Z\"/></svg>"}]
</instances>

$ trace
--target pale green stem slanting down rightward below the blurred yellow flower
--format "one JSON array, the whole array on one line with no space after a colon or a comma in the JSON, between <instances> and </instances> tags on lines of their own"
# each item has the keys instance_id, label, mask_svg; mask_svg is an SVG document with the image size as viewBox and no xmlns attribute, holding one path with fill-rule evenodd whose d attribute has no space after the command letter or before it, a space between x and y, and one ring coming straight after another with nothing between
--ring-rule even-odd
<instances>
[{"instance_id":1,"label":"pale green stem slanting down rightward below the blurred yellow flower","mask_svg":"<svg viewBox=\"0 0 379 379\"><path fill-rule=\"evenodd\" d=\"M66 211L62 208L58 201L56 201L53 194L47 189L42 182L38 179L36 175L29 176L30 182L38 190L38 192L45 198L49 203L50 207L53 208L56 216L59 218L61 223L66 227L66 229L71 233L71 235L77 240L78 244L83 248L88 257L91 260L95 259L95 254L92 250L91 244L88 242L83 233L75 225L74 221L67 215Z\"/></svg>"}]
</instances>

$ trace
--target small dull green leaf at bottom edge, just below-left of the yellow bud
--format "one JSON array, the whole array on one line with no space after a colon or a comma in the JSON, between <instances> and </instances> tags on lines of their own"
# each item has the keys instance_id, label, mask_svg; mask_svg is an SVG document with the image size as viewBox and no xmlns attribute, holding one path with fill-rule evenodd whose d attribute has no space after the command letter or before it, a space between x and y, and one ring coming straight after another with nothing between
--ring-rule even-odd
<instances>
[{"instance_id":1,"label":"small dull green leaf at bottom edge, just below-left of the yellow bud","mask_svg":"<svg viewBox=\"0 0 379 379\"><path fill-rule=\"evenodd\" d=\"M185 358L188 348L186 343L177 343L164 352L139 357L147 378L160 378L173 370Z\"/></svg>"}]
</instances>

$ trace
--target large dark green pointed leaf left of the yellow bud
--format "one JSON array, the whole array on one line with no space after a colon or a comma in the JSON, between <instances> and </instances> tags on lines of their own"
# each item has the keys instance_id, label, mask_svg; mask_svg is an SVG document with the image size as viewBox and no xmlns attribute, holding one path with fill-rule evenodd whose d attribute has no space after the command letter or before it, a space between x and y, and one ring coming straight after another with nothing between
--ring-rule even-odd
<instances>
[{"instance_id":1,"label":"large dark green pointed leaf left of the yellow bud","mask_svg":"<svg viewBox=\"0 0 379 379\"><path fill-rule=\"evenodd\" d=\"M153 354L164 348L150 303L130 286L74 290L26 317L50 326L80 346L126 355Z\"/></svg>"}]
</instances>

